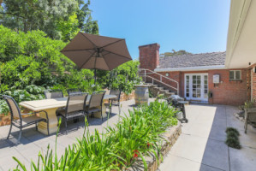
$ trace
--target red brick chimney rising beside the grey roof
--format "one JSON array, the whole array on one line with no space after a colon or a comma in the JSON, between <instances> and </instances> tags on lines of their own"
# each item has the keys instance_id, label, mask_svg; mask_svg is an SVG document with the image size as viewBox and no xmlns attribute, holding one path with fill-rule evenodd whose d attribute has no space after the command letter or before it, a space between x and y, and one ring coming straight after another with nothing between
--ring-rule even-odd
<instances>
[{"instance_id":1,"label":"red brick chimney rising beside the grey roof","mask_svg":"<svg viewBox=\"0 0 256 171\"><path fill-rule=\"evenodd\" d=\"M140 68L154 70L159 66L160 44L140 45Z\"/></svg>"}]
</instances>

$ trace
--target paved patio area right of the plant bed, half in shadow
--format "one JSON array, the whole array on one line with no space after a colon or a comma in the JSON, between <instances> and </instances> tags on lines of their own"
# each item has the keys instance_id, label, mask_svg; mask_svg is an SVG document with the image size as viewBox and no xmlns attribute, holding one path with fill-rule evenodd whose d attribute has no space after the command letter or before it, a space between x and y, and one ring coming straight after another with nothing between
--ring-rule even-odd
<instances>
[{"instance_id":1,"label":"paved patio area right of the plant bed, half in shadow","mask_svg":"<svg viewBox=\"0 0 256 171\"><path fill-rule=\"evenodd\" d=\"M171 171L253 171L256 170L256 128L248 127L233 115L236 107L191 104L186 108L188 123L159 170ZM235 127L241 136L241 150L225 143L226 127Z\"/></svg>"}]
</instances>

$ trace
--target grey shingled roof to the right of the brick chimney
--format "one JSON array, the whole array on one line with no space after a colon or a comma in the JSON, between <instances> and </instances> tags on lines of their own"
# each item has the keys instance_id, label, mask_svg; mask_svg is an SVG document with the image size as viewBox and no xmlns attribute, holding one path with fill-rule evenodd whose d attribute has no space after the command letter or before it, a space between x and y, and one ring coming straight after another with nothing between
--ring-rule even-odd
<instances>
[{"instance_id":1,"label":"grey shingled roof to the right of the brick chimney","mask_svg":"<svg viewBox=\"0 0 256 171\"><path fill-rule=\"evenodd\" d=\"M188 68L225 64L226 52L160 56L158 68Z\"/></svg>"}]
</instances>

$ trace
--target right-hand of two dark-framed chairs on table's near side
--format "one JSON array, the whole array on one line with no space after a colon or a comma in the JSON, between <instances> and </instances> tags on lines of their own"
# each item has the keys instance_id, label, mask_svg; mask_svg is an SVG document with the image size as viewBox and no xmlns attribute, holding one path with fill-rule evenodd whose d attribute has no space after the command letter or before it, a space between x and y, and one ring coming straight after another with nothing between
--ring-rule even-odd
<instances>
[{"instance_id":1,"label":"right-hand of two dark-framed chairs on table's near side","mask_svg":"<svg viewBox=\"0 0 256 171\"><path fill-rule=\"evenodd\" d=\"M101 112L101 121L103 121L102 115L102 103L104 94L106 91L95 91L92 92L88 106L86 106L86 115L93 115L94 113ZM98 108L100 107L100 108Z\"/></svg>"}]
</instances>

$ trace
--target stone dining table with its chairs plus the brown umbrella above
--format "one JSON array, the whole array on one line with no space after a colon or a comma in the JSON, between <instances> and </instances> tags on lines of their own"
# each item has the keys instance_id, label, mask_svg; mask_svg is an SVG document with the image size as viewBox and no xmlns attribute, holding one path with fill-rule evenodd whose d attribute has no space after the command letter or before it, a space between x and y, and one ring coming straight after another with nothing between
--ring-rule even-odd
<instances>
[{"instance_id":1,"label":"stone dining table with its chairs plus the brown umbrella above","mask_svg":"<svg viewBox=\"0 0 256 171\"><path fill-rule=\"evenodd\" d=\"M73 61L79 69L94 69L94 84L97 78L96 69L110 71L132 60L124 38L110 38L84 32L78 32L61 53ZM119 106L120 113L120 95L119 90L111 90L110 94L97 91L92 92L91 95L80 90L68 90L68 97L63 97L63 91L45 91L44 100L19 103L20 106L33 111L29 114L21 114L15 99L3 95L11 114L9 135L13 126L18 127L20 129L18 141L20 141L22 128L33 124L40 133L47 135L57 133L57 117L63 118L68 133L68 120L76 121L80 117L91 115L101 117L103 120L105 108L108 108L111 114L113 105ZM108 100L108 103L104 103L104 100Z\"/></svg>"}]
</instances>

